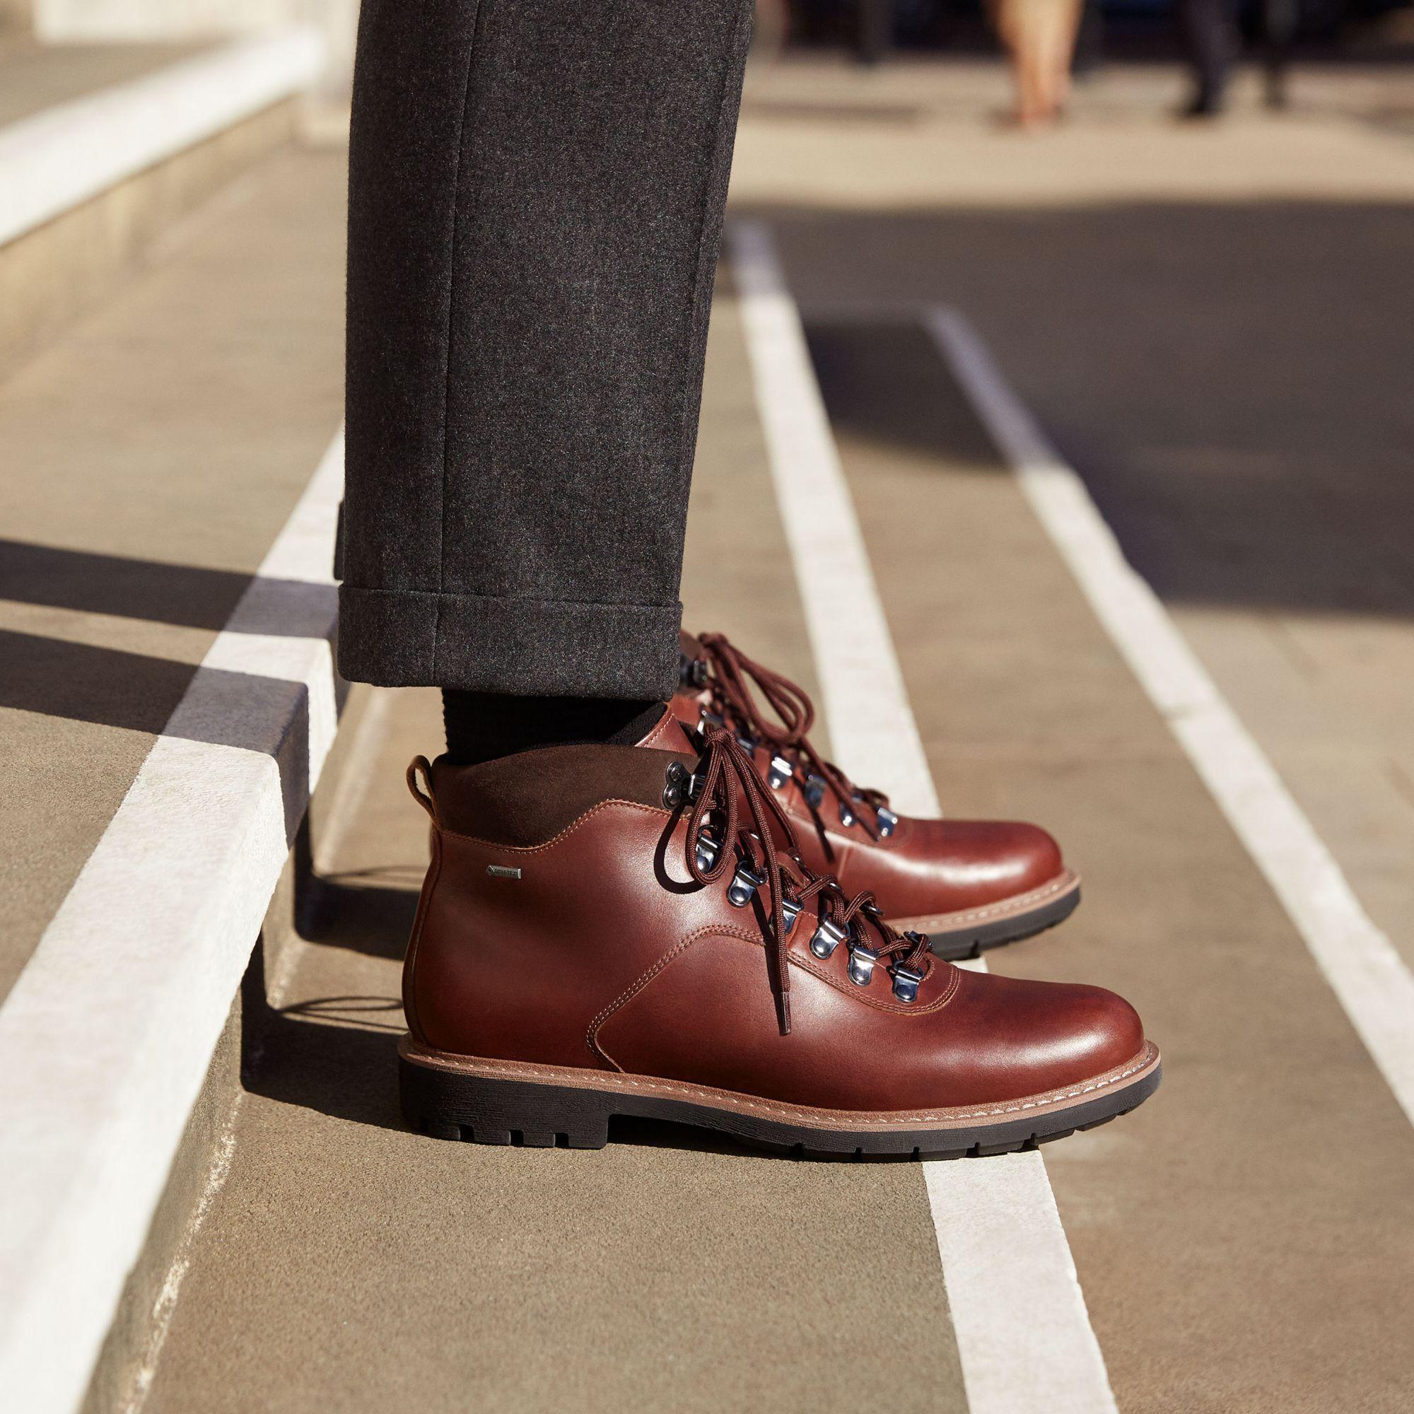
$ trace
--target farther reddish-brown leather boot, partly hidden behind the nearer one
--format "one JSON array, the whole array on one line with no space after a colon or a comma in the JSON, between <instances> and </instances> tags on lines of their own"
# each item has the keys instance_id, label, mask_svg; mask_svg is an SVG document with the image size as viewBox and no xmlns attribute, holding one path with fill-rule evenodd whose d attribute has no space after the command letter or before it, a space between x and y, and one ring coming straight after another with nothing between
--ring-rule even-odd
<instances>
[{"instance_id":1,"label":"farther reddish-brown leather boot, partly hidden behind the nearer one","mask_svg":"<svg viewBox=\"0 0 1414 1414\"><path fill-rule=\"evenodd\" d=\"M976 957L1075 912L1080 877L1039 826L896 814L887 795L854 785L810 745L814 706L796 683L721 633L683 633L682 646L674 715L691 728L735 731L795 822L806 864L874 894L899 932L923 933L939 957Z\"/></svg>"}]
</instances>

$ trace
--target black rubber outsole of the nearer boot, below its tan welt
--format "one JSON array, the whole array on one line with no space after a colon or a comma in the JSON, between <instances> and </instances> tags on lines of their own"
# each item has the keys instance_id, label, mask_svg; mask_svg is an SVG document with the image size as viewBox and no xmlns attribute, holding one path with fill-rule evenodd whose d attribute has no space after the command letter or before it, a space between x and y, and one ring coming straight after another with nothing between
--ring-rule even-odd
<instances>
[{"instance_id":1,"label":"black rubber outsole of the nearer boot, below its tan welt","mask_svg":"<svg viewBox=\"0 0 1414 1414\"><path fill-rule=\"evenodd\" d=\"M1063 1110L946 1130L829 1130L789 1124L691 1100L624 1090L502 1080L419 1065L399 1058L403 1116L434 1138L526 1148L602 1148L609 1120L670 1120L728 1134L748 1144L802 1157L925 1155L936 1158L1011 1154L1065 1138L1076 1130L1128 1114L1157 1089L1161 1068Z\"/></svg>"}]
</instances>

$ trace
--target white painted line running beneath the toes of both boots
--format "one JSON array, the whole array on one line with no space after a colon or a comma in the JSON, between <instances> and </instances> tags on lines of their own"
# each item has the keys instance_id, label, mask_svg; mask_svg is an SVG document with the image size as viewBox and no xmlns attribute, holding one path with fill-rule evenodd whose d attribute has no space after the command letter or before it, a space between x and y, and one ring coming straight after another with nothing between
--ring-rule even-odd
<instances>
[{"instance_id":1,"label":"white painted line running beneath the toes of both boots","mask_svg":"<svg viewBox=\"0 0 1414 1414\"><path fill-rule=\"evenodd\" d=\"M830 740L857 781L906 810L937 797L795 301L769 232L731 229L756 404ZM923 1164L973 1414L1114 1414L1039 1154Z\"/></svg>"}]
</instances>

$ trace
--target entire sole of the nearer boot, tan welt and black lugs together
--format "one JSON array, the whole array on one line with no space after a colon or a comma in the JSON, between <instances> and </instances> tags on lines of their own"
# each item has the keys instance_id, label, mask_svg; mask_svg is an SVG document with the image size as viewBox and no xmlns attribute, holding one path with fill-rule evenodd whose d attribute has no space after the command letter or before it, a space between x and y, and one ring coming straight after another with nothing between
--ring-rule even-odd
<instances>
[{"instance_id":1,"label":"entire sole of the nearer boot, tan welt and black lugs together","mask_svg":"<svg viewBox=\"0 0 1414 1414\"><path fill-rule=\"evenodd\" d=\"M809 1157L1010 1154L1128 1114L1157 1089L1158 1049L1066 1090L928 1111L820 1110L711 1086L570 1066L488 1060L403 1036L399 1079L410 1128L434 1138L527 1148L602 1148L618 1116L672 1120Z\"/></svg>"}]
</instances>

